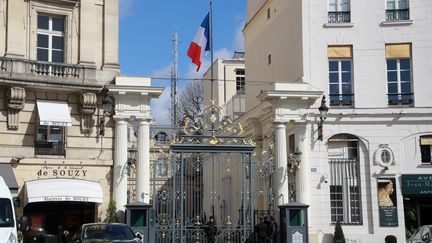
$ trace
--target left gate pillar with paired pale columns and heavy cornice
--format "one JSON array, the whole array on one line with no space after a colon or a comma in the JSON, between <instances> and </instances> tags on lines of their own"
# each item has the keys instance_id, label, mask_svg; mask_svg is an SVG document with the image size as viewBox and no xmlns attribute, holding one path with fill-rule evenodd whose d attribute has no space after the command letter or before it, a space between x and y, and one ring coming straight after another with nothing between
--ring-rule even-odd
<instances>
[{"instance_id":1,"label":"left gate pillar with paired pale columns and heavy cornice","mask_svg":"<svg viewBox=\"0 0 432 243\"><path fill-rule=\"evenodd\" d=\"M137 198L149 202L150 191L150 148L149 121L150 100L158 98L164 88L152 87L150 78L116 77L114 85L108 85L109 94L115 98L114 119L116 120L114 147L113 198L116 201L120 222L125 222L127 204L127 122L131 118L140 121L138 138Z\"/></svg>"}]
</instances>

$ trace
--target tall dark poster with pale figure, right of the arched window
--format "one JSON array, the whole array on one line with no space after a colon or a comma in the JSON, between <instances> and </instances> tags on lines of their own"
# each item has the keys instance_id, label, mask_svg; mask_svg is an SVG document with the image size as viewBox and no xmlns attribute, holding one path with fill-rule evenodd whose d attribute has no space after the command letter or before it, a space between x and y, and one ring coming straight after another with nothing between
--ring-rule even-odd
<instances>
[{"instance_id":1,"label":"tall dark poster with pale figure, right of the arched window","mask_svg":"<svg viewBox=\"0 0 432 243\"><path fill-rule=\"evenodd\" d=\"M377 182L380 227L397 227L396 181L394 178L379 178Z\"/></svg>"}]
</instances>

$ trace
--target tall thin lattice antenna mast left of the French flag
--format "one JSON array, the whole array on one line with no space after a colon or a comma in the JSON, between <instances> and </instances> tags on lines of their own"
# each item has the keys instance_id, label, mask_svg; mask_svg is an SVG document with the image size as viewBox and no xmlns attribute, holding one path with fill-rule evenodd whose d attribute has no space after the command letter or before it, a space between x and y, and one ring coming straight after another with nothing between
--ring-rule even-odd
<instances>
[{"instance_id":1,"label":"tall thin lattice antenna mast left of the French flag","mask_svg":"<svg viewBox=\"0 0 432 243\"><path fill-rule=\"evenodd\" d=\"M171 126L176 127L177 119L177 80L178 80L178 37L177 32L173 33L173 65L171 68Z\"/></svg>"}]
</instances>

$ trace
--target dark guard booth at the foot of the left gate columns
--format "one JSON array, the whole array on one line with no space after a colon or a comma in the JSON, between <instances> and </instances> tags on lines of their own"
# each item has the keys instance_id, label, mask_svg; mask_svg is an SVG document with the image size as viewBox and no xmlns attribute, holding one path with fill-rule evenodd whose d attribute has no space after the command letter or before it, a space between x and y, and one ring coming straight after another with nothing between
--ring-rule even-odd
<instances>
[{"instance_id":1,"label":"dark guard booth at the foot of the left gate columns","mask_svg":"<svg viewBox=\"0 0 432 243\"><path fill-rule=\"evenodd\" d=\"M126 224L142 235L143 243L150 243L150 210L151 205L142 202L126 205Z\"/></svg>"}]
</instances>

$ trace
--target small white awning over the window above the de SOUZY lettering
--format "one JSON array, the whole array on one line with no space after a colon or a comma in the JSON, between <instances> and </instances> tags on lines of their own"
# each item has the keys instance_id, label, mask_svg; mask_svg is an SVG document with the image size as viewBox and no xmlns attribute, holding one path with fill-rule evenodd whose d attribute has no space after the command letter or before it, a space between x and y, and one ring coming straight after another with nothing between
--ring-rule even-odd
<instances>
[{"instance_id":1,"label":"small white awning over the window above the de SOUZY lettering","mask_svg":"<svg viewBox=\"0 0 432 243\"><path fill-rule=\"evenodd\" d=\"M66 102L61 101L36 101L40 125L45 126L71 126L72 119Z\"/></svg>"}]
</instances>

